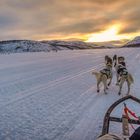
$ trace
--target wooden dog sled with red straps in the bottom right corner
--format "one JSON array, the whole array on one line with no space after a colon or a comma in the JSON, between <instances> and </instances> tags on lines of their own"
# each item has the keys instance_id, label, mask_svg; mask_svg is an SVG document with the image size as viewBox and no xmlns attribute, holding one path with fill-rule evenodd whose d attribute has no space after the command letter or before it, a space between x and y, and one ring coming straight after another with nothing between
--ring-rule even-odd
<instances>
[{"instance_id":1,"label":"wooden dog sled with red straps in the bottom right corner","mask_svg":"<svg viewBox=\"0 0 140 140\"><path fill-rule=\"evenodd\" d=\"M138 128L138 130L137 129L135 130L136 133L139 133L138 134L139 136L136 136L135 132L134 132L133 136L131 136L131 138L130 138L129 125L131 127L133 127L133 124L140 125L140 118L138 116L136 116L136 114L127 107L125 101L128 99L133 100L134 102L137 102L138 104L140 104L140 99L138 99L132 95L127 95L127 96L117 100L116 102L114 102L109 107L109 109L107 110L107 112L104 116L103 127L102 127L102 136L110 134L109 128L110 128L111 122L118 122L118 123L122 123L122 138L120 140L131 140L131 139L137 140L136 137L138 137L138 140L140 140L140 127ZM116 108L116 106L118 106L121 103L124 105L124 113L122 114L122 117L119 118L119 117L111 116L111 112ZM134 119L131 119L130 115L132 115ZM135 138L133 139L132 137L133 138L135 137ZM114 139L103 138L103 140L115 140L115 139L117 139L117 137L115 137L115 136L114 136ZM119 138L117 140L119 140Z\"/></svg>"}]
</instances>

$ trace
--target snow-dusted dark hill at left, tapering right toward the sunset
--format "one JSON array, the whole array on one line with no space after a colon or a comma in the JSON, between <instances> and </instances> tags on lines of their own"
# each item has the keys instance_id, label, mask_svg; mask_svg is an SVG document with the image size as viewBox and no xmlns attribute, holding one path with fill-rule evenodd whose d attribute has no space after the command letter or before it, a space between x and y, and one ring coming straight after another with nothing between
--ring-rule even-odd
<instances>
[{"instance_id":1,"label":"snow-dusted dark hill at left, tapering right toward the sunset","mask_svg":"<svg viewBox=\"0 0 140 140\"><path fill-rule=\"evenodd\" d=\"M32 41L32 40L9 40L0 42L0 53L13 52L39 52L58 50L77 50L100 48L93 43L82 41Z\"/></svg>"}]
</instances>

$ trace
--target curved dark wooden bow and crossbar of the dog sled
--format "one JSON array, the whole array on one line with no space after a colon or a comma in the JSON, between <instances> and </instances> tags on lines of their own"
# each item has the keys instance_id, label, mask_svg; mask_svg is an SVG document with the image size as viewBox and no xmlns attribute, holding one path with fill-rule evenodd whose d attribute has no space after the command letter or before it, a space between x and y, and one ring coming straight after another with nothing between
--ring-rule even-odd
<instances>
[{"instance_id":1,"label":"curved dark wooden bow and crossbar of the dog sled","mask_svg":"<svg viewBox=\"0 0 140 140\"><path fill-rule=\"evenodd\" d=\"M105 134L108 134L109 132L109 124L110 124L110 121L115 121L115 122L122 122L122 118L117 118L117 117L111 117L110 114L111 112L114 110L114 108L122 103L123 101L125 100L128 100L128 99L131 99L137 103L140 104L140 99L132 96L132 95L127 95L119 100L117 100L116 102L114 102L110 107L109 109L107 110L106 114L105 114L105 117L104 117L104 122L103 122L103 128L102 128L102 135L105 135ZM129 123L132 123L132 124L140 124L140 120L133 120L133 119L128 119L128 122Z\"/></svg>"}]
</instances>

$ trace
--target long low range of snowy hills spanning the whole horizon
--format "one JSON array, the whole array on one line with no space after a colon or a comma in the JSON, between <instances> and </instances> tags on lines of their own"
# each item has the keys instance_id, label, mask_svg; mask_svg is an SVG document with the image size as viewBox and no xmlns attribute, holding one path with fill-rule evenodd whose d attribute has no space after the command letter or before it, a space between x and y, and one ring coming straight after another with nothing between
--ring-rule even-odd
<instances>
[{"instance_id":1,"label":"long low range of snowy hills spanning the whole horizon","mask_svg":"<svg viewBox=\"0 0 140 140\"><path fill-rule=\"evenodd\" d=\"M108 42L82 42L82 41L34 41L34 40L7 40L0 41L0 53L16 52L50 52L60 50L81 50L81 49L105 49L120 47L128 40L108 41ZM140 46L140 37L128 42L125 47Z\"/></svg>"}]
</instances>

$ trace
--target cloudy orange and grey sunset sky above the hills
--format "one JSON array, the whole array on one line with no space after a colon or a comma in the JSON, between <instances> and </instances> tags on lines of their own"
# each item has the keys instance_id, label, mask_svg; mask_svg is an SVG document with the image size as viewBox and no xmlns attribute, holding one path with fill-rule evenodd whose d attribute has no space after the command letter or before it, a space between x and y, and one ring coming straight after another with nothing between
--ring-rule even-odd
<instances>
[{"instance_id":1,"label":"cloudy orange and grey sunset sky above the hills","mask_svg":"<svg viewBox=\"0 0 140 140\"><path fill-rule=\"evenodd\" d=\"M140 35L140 0L0 0L0 40L100 42Z\"/></svg>"}]
</instances>

